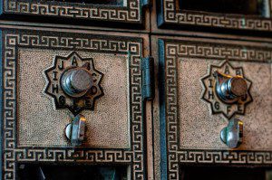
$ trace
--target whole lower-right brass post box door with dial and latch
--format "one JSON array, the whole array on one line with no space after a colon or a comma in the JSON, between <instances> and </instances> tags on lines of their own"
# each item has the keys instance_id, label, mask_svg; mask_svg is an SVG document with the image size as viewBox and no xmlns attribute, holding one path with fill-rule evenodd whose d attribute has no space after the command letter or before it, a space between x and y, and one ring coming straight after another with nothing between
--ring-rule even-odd
<instances>
[{"instance_id":1,"label":"whole lower-right brass post box door with dial and latch","mask_svg":"<svg viewBox=\"0 0 272 180\"><path fill-rule=\"evenodd\" d=\"M160 179L181 179L187 166L271 166L271 44L152 36L152 45Z\"/></svg>"}]
</instances>

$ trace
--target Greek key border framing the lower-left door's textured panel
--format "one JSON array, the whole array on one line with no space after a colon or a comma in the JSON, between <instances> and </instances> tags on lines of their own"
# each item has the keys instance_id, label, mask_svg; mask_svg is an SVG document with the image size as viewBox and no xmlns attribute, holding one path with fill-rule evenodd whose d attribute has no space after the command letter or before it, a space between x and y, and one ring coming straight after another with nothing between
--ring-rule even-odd
<instances>
[{"instance_id":1,"label":"Greek key border framing the lower-left door's textured panel","mask_svg":"<svg viewBox=\"0 0 272 180\"><path fill-rule=\"evenodd\" d=\"M81 36L82 35L82 36ZM90 37L89 37L90 36ZM15 179L17 162L117 163L131 165L131 178L144 178L143 120L141 110L141 39L70 33L3 32L3 179ZM16 147L16 58L19 47L130 52L131 149Z\"/></svg>"}]
</instances>

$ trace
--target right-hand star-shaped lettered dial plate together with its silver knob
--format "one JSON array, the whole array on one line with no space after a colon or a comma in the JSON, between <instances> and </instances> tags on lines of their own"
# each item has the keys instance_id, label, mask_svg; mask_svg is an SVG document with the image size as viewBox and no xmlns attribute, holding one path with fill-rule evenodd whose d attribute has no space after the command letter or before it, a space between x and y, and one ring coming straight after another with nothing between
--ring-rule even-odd
<instances>
[{"instance_id":1,"label":"right-hand star-shaped lettered dial plate together with its silver knob","mask_svg":"<svg viewBox=\"0 0 272 180\"><path fill-rule=\"evenodd\" d=\"M244 75L242 67L233 67L225 61L219 66L210 64L208 75L201 79L202 99L209 103L212 114L222 114L230 119L244 115L250 94L251 81Z\"/></svg>"}]
</instances>

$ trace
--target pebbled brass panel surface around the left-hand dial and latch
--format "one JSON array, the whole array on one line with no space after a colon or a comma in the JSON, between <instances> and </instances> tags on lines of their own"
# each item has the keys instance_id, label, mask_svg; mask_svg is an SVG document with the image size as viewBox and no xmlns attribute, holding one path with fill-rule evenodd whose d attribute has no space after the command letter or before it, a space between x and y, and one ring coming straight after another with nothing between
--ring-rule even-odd
<instances>
[{"instance_id":1,"label":"pebbled brass panel surface around the left-hand dial and latch","mask_svg":"<svg viewBox=\"0 0 272 180\"><path fill-rule=\"evenodd\" d=\"M18 58L18 146L69 147L64 128L72 120L68 109L56 110L53 100L44 94L44 70L55 55L69 51L20 49ZM86 118L84 147L130 147L128 109L128 64L124 55L79 52L92 57L104 72L105 95L93 111L83 110ZM112 79L112 77L116 77Z\"/></svg>"}]
</instances>

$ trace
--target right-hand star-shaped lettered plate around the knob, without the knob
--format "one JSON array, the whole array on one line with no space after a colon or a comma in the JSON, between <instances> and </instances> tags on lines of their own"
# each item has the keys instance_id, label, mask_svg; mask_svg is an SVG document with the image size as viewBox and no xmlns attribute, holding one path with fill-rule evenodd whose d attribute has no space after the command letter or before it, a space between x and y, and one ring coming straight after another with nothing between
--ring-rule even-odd
<instances>
[{"instance_id":1,"label":"right-hand star-shaped lettered plate around the knob, without the knob","mask_svg":"<svg viewBox=\"0 0 272 180\"><path fill-rule=\"evenodd\" d=\"M219 96L216 92L216 78L215 72L219 71L221 73L230 75L230 76L241 76L248 84L248 93L245 97L240 99L238 103L224 103L219 99ZM242 67L234 68L230 62L223 62L221 65L210 65L208 75L201 79L204 90L202 94L202 99L206 100L209 103L210 111L212 114L222 114L226 118L232 118L236 114L244 115L246 112L246 107L249 102L252 101L250 95L250 86L251 81L249 81L245 75Z\"/></svg>"}]
</instances>

